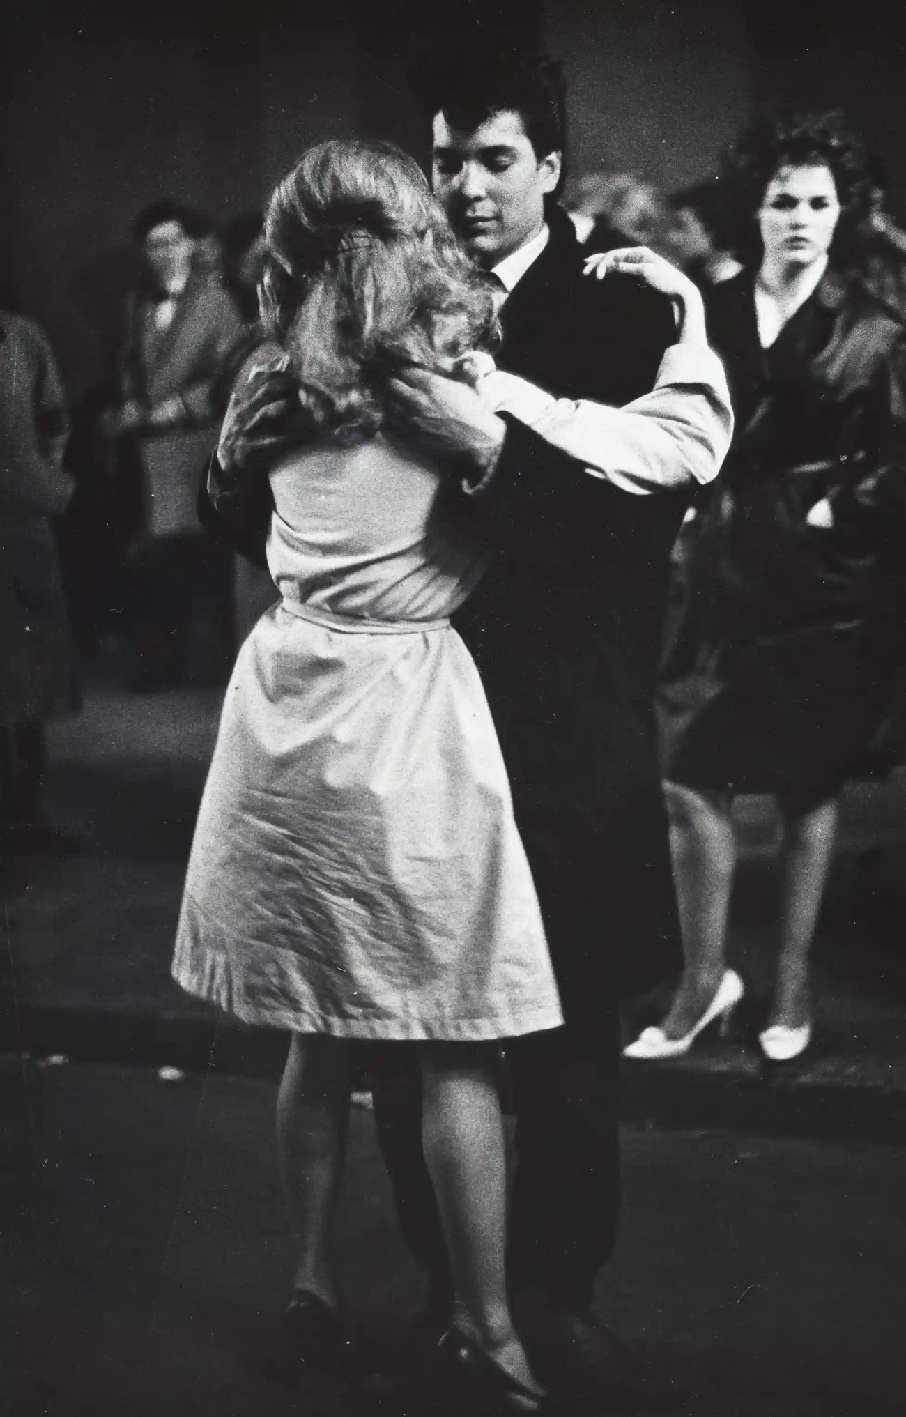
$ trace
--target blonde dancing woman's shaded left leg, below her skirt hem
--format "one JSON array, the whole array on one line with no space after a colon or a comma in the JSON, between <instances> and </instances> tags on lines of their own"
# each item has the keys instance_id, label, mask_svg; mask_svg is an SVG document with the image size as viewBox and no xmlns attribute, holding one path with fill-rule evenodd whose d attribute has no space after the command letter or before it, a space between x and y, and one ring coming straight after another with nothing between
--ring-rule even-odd
<instances>
[{"instance_id":1,"label":"blonde dancing woman's shaded left leg, below her skirt hem","mask_svg":"<svg viewBox=\"0 0 906 1417\"><path fill-rule=\"evenodd\" d=\"M349 1134L350 1047L293 1034L276 1097L276 1141L289 1226L298 1247L293 1288L337 1308L335 1219Z\"/></svg>"}]
</instances>

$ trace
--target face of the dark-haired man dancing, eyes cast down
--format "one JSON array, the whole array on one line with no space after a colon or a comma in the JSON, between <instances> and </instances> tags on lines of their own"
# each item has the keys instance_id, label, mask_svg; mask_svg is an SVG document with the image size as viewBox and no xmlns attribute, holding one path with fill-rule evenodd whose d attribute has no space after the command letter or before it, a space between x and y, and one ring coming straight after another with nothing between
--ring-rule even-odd
<instances>
[{"instance_id":1,"label":"face of the dark-haired man dancing, eyes cast down","mask_svg":"<svg viewBox=\"0 0 906 1417\"><path fill-rule=\"evenodd\" d=\"M464 133L434 119L431 183L449 224L475 261L489 269L544 222L544 197L557 186L560 153L540 160L512 109Z\"/></svg>"}]
</instances>

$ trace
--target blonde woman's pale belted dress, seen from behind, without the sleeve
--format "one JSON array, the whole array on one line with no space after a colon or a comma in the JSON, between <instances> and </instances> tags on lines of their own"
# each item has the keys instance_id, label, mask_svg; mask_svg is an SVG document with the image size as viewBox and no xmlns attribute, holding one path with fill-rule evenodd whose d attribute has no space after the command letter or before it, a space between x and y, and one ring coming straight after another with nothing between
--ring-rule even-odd
<instances>
[{"instance_id":1,"label":"blonde woman's pale belted dress, seen from behind, without the sleeve","mask_svg":"<svg viewBox=\"0 0 906 1417\"><path fill-rule=\"evenodd\" d=\"M281 601L240 650L173 973L251 1023L349 1039L561 1023L472 659L448 616L485 553L384 436L271 476Z\"/></svg>"}]
</instances>

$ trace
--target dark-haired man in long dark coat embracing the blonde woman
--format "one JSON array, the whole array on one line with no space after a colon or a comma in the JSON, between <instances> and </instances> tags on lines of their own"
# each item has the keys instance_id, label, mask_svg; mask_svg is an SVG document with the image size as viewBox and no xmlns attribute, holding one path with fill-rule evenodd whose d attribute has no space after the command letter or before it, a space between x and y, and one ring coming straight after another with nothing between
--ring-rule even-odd
<instances>
[{"instance_id":1,"label":"dark-haired man in long dark coat embracing the blonde woman","mask_svg":"<svg viewBox=\"0 0 906 1417\"><path fill-rule=\"evenodd\" d=\"M583 276L561 179L559 67L539 57L423 71L432 181L503 299L498 364L573 398L651 390L675 339L669 303L624 276ZM285 405L284 405L285 407ZM235 402L213 465L231 475L279 445L279 378ZM408 436L458 461L499 555L459 629L479 665L535 874L566 1026L508 1049L516 1110L509 1272L516 1319L552 1389L604 1394L614 1343L593 1312L618 1209L618 1000L679 962L654 684L668 557L688 496L631 496L588 475L466 385L413 370L396 384ZM234 479L235 480L235 479ZM244 534L248 537L248 517ZM421 1155L411 1050L374 1081L404 1234L431 1287L451 1285Z\"/></svg>"}]
</instances>

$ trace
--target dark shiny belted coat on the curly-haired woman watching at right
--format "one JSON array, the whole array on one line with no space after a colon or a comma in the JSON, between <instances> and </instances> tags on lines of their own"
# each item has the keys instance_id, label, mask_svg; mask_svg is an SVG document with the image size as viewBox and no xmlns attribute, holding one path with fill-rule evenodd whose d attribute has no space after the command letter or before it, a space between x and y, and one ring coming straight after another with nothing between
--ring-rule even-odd
<instances>
[{"instance_id":1,"label":"dark shiny belted coat on the curly-haired woman watching at right","mask_svg":"<svg viewBox=\"0 0 906 1417\"><path fill-rule=\"evenodd\" d=\"M906 547L906 336L828 272L768 350L751 275L710 295L736 434L676 558L666 775L808 806L896 717ZM834 523L810 509L827 499Z\"/></svg>"}]
</instances>

